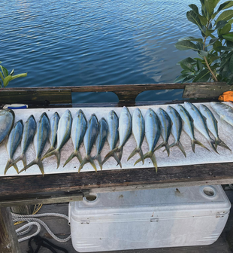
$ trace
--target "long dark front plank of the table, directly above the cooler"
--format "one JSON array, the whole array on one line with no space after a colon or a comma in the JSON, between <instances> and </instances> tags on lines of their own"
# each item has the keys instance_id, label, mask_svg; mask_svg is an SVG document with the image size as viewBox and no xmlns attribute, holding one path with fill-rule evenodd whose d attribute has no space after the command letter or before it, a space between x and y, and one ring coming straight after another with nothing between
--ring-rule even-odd
<instances>
[{"instance_id":1,"label":"long dark front plank of the table, directly above the cooler","mask_svg":"<svg viewBox=\"0 0 233 256\"><path fill-rule=\"evenodd\" d=\"M57 191L92 190L105 192L138 188L184 187L198 184L233 183L233 163L214 163L190 166L122 169L101 172L65 173L57 175L14 176L0 178L0 195L14 200L17 195L44 191L47 196Z\"/></svg>"}]
</instances>

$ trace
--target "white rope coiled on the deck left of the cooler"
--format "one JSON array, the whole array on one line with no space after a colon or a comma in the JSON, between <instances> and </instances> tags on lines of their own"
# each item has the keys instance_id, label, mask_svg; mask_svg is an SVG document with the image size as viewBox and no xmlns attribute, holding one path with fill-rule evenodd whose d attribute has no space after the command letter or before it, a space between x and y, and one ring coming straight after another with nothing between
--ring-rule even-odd
<instances>
[{"instance_id":1,"label":"white rope coiled on the deck left of the cooler","mask_svg":"<svg viewBox=\"0 0 233 256\"><path fill-rule=\"evenodd\" d=\"M55 239L58 242L68 242L71 239L71 235L68 236L65 239L61 239L61 238L57 237L50 230L50 228L47 226L47 224L44 223L44 221L41 221L41 220L37 219L37 218L41 218L41 217L60 217L60 218L65 218L66 220L68 220L68 216L62 215L62 214L59 214L59 213L44 213L44 214L41 214L41 215L17 215L15 213L12 213L12 218L13 218L14 222L17 222L17 221L28 221L29 222L29 224L26 224L25 226L23 226L24 228L20 227L20 229L17 230L18 232L20 232L21 230L24 230L26 227L29 227L30 224L32 226L32 225L35 225L35 223L36 223L36 226L39 225L40 229L38 228L39 231L37 230L37 232L35 234L33 234L32 236L36 236L36 235L38 235L38 233L40 233L41 225L42 225L47 230L47 232L50 234L50 236L52 236L53 239ZM25 233L26 233L26 231L24 232L24 234ZM26 241L26 240L30 239L32 236L26 236L26 237L20 239L19 242Z\"/></svg>"}]
</instances>

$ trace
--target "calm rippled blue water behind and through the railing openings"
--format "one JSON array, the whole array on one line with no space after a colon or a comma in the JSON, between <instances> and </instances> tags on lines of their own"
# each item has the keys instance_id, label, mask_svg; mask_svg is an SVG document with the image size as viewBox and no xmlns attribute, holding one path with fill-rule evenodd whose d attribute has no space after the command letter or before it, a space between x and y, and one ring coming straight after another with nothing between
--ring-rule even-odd
<instances>
[{"instance_id":1,"label":"calm rippled blue water behind and through the railing openings","mask_svg":"<svg viewBox=\"0 0 233 256\"><path fill-rule=\"evenodd\" d=\"M192 51L178 38L199 36L186 20L198 0L2 0L0 61L26 78L11 87L170 83ZM180 90L138 100L180 99ZM74 95L74 102L116 101L113 93Z\"/></svg>"}]
</instances>

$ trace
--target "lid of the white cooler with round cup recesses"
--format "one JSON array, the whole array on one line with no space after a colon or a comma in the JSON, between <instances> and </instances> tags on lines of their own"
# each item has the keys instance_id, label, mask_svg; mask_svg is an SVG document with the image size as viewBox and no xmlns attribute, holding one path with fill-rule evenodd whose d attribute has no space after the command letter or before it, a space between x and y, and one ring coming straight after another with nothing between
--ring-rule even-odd
<instances>
[{"instance_id":1,"label":"lid of the white cooler with round cup recesses","mask_svg":"<svg viewBox=\"0 0 233 256\"><path fill-rule=\"evenodd\" d=\"M96 197L96 199L95 199ZM95 194L71 203L72 217L153 215L170 218L227 214L231 208L222 186L194 186Z\"/></svg>"}]
</instances>

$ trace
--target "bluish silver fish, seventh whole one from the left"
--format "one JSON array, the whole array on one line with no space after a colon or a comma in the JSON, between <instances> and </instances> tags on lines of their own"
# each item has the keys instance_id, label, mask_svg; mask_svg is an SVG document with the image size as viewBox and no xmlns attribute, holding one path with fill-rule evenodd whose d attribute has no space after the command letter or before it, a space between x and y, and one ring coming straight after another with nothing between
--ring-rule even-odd
<instances>
[{"instance_id":1,"label":"bluish silver fish, seventh whole one from the left","mask_svg":"<svg viewBox=\"0 0 233 256\"><path fill-rule=\"evenodd\" d=\"M86 157L83 159L83 162L81 163L78 169L78 172L80 172L80 170L83 168L83 166L86 163L91 163L91 165L95 169L95 172L97 172L94 160L90 154L91 154L95 139L98 136L98 131L99 131L98 119L95 116L95 114L92 114L91 117L89 118L87 130L84 136L84 146L86 150Z\"/></svg>"}]
</instances>

